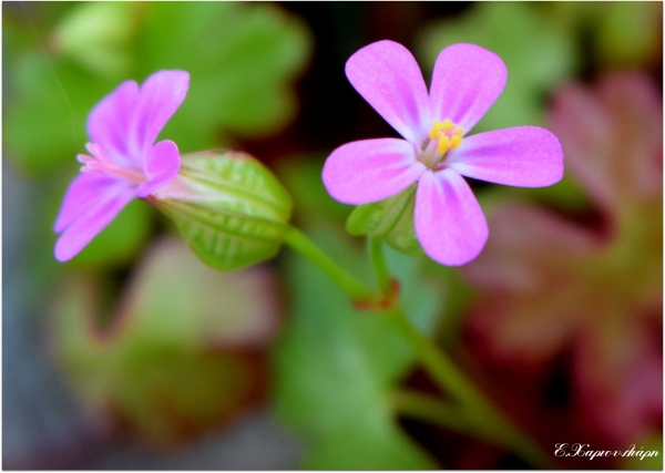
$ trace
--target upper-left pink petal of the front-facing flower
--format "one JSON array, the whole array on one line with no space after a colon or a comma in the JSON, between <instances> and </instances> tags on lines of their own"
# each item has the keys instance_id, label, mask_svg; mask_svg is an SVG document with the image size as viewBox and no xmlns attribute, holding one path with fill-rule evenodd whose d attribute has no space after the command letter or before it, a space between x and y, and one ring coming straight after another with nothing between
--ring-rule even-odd
<instances>
[{"instance_id":1,"label":"upper-left pink petal of the front-facing flower","mask_svg":"<svg viewBox=\"0 0 665 473\"><path fill-rule=\"evenodd\" d=\"M401 44L379 41L349 58L354 88L407 141L420 146L432 126L429 97L413 55Z\"/></svg>"}]
</instances>

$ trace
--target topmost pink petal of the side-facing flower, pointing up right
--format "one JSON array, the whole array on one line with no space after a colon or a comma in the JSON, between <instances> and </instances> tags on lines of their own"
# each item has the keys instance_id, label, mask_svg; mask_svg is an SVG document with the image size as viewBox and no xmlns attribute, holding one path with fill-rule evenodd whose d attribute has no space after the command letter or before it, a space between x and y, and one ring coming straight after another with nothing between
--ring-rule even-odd
<instances>
[{"instance_id":1,"label":"topmost pink petal of the side-facing flower, pointing up right","mask_svg":"<svg viewBox=\"0 0 665 473\"><path fill-rule=\"evenodd\" d=\"M190 74L185 71L160 71L145 80L131 127L133 151L146 156L157 135L185 100Z\"/></svg>"}]
</instances>

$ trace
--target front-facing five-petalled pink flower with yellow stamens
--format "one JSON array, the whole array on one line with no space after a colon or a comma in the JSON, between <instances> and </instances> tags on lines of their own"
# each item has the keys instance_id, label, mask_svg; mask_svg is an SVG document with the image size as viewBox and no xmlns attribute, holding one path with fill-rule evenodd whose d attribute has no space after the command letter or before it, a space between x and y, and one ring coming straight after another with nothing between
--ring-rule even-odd
<instances>
[{"instance_id":1,"label":"front-facing five-petalled pink flower with yellow stamens","mask_svg":"<svg viewBox=\"0 0 665 473\"><path fill-rule=\"evenodd\" d=\"M323 179L345 204L368 204L418 182L416 236L436 261L472 260L488 225L462 176L539 187L563 175L559 140L546 130L518 126L468 136L503 91L508 71L494 53L454 44L439 54L430 92L411 53L379 41L347 62L354 88L403 137L347 143L326 161Z\"/></svg>"}]
</instances>

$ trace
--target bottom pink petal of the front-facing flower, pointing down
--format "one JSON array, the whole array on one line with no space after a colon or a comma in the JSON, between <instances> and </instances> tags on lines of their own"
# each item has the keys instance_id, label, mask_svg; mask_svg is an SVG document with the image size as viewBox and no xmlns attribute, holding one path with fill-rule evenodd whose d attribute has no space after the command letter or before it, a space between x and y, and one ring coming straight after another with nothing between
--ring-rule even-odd
<instances>
[{"instance_id":1,"label":"bottom pink petal of the front-facing flower, pointing down","mask_svg":"<svg viewBox=\"0 0 665 473\"><path fill-rule=\"evenodd\" d=\"M416 193L416 236L434 261L459 266L478 256L488 224L471 188L452 169L424 173Z\"/></svg>"}]
</instances>

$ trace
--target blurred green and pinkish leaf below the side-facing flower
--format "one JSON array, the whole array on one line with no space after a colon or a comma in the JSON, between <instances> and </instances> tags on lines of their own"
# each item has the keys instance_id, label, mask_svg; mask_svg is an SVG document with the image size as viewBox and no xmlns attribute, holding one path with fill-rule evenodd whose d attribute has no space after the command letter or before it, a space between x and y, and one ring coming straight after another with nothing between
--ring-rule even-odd
<instances>
[{"instance_id":1,"label":"blurred green and pinkish leaf below the side-facing flower","mask_svg":"<svg viewBox=\"0 0 665 473\"><path fill-rule=\"evenodd\" d=\"M54 304L58 360L93 412L170 443L227 421L263 391L277 328L265 268L218 273L180 241L154 247L100 329L99 285L69 279Z\"/></svg>"}]
</instances>

